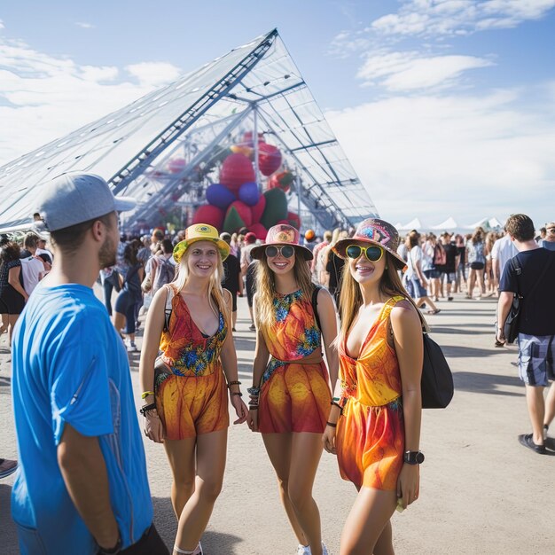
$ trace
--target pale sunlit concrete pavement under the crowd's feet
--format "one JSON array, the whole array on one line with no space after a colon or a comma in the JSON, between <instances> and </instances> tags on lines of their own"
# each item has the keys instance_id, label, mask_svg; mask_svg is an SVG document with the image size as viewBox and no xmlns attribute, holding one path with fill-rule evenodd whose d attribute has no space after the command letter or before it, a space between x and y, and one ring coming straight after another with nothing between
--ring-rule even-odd
<instances>
[{"instance_id":1,"label":"pale sunlit concrete pavement under the crowd's feet","mask_svg":"<svg viewBox=\"0 0 555 555\"><path fill-rule=\"evenodd\" d=\"M455 378L455 397L446 410L425 410L418 502L393 517L397 553L555 552L555 450L539 456L520 446L528 433L524 387L512 362L516 348L493 347L495 300L441 301L441 314L428 317ZM254 332L248 331L246 299L239 299L239 374L250 384ZM86 340L86 338L83 338ZM136 393L138 355L130 356ZM10 356L0 340L0 456L16 456ZM138 402L137 402L138 405ZM555 426L554 426L555 427ZM555 441L549 446L555 449ZM170 473L163 447L145 440L155 523L173 545L176 520L169 501ZM0 552L18 553L10 517L13 476L0 481ZM355 499L352 484L340 479L335 458L324 452L315 498L324 542L339 553L342 525ZM202 543L207 555L293 554L296 541L279 504L273 471L259 434L231 426L222 495Z\"/></svg>"}]
</instances>

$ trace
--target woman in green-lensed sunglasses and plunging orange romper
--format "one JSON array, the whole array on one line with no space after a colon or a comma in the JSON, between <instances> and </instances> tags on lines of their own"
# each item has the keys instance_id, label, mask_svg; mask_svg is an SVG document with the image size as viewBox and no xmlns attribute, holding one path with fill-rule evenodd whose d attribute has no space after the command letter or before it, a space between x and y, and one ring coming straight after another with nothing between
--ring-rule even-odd
<instances>
[{"instance_id":1,"label":"woman in green-lensed sunglasses and plunging orange romper","mask_svg":"<svg viewBox=\"0 0 555 555\"><path fill-rule=\"evenodd\" d=\"M337 338L340 380L324 449L358 490L340 555L393 553L390 519L418 498L423 318L397 270L395 227L377 218L334 247L346 260Z\"/></svg>"}]
</instances>

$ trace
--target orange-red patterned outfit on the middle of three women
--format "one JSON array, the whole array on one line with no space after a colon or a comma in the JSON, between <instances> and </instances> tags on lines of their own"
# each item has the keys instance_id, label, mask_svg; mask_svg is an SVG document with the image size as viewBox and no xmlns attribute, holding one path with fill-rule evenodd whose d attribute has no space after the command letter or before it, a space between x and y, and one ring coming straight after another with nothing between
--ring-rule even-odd
<instances>
[{"instance_id":1,"label":"orange-red patterned outfit on the middle of three women","mask_svg":"<svg viewBox=\"0 0 555 555\"><path fill-rule=\"evenodd\" d=\"M262 375L259 429L322 434L332 395L312 303L301 290L276 293L273 302L276 322L262 329L271 357Z\"/></svg>"}]
</instances>

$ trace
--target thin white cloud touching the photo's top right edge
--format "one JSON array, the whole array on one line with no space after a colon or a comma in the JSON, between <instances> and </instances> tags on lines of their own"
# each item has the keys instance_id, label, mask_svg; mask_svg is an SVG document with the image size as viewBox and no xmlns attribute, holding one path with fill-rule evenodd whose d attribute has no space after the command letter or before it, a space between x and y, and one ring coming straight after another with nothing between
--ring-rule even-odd
<instances>
[{"instance_id":1,"label":"thin white cloud touching the photo's top right edge","mask_svg":"<svg viewBox=\"0 0 555 555\"><path fill-rule=\"evenodd\" d=\"M470 35L538 20L555 0L410 0L371 23L382 35Z\"/></svg>"}]
</instances>

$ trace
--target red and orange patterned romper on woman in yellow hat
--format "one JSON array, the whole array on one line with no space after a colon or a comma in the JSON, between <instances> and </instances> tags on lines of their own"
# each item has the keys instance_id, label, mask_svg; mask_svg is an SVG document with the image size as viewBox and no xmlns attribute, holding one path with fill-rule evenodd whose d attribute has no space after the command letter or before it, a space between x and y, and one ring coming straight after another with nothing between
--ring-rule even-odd
<instances>
[{"instance_id":1,"label":"red and orange patterned romper on woman in yellow hat","mask_svg":"<svg viewBox=\"0 0 555 555\"><path fill-rule=\"evenodd\" d=\"M160 339L162 360L168 368L156 369L154 392L164 437L184 440L230 424L227 383L220 362L227 326L220 312L217 332L205 336L184 298L175 289L174 293L169 329Z\"/></svg>"}]
</instances>

